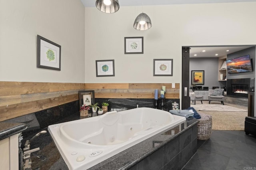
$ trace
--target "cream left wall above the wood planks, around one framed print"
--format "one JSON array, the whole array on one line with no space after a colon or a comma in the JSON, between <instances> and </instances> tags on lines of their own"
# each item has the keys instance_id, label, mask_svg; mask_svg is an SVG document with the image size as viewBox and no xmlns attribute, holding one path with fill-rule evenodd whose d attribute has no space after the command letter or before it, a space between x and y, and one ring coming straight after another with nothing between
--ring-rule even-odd
<instances>
[{"instance_id":1,"label":"cream left wall above the wood planks, around one framed print","mask_svg":"<svg viewBox=\"0 0 256 170\"><path fill-rule=\"evenodd\" d=\"M80 0L0 0L0 81L84 83ZM36 67L36 36L61 45L61 71Z\"/></svg>"}]
</instances>

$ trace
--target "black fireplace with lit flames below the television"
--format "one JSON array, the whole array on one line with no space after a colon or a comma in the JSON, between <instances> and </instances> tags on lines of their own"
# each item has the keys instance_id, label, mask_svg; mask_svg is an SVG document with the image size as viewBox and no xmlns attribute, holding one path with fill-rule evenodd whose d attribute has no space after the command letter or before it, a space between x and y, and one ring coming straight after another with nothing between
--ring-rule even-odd
<instances>
[{"instance_id":1,"label":"black fireplace with lit flames below the television","mask_svg":"<svg viewBox=\"0 0 256 170\"><path fill-rule=\"evenodd\" d=\"M250 90L254 89L254 79L228 79L227 95L233 97L248 97Z\"/></svg>"}]
</instances>

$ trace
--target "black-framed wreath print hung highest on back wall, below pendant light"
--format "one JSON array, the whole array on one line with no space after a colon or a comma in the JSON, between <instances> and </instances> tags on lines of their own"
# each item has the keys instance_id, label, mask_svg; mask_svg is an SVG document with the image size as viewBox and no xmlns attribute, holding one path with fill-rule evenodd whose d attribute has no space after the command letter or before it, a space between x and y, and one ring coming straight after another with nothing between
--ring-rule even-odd
<instances>
[{"instance_id":1,"label":"black-framed wreath print hung highest on back wall, below pendant light","mask_svg":"<svg viewBox=\"0 0 256 170\"><path fill-rule=\"evenodd\" d=\"M143 37L125 37L124 54L143 54Z\"/></svg>"}]
</instances>

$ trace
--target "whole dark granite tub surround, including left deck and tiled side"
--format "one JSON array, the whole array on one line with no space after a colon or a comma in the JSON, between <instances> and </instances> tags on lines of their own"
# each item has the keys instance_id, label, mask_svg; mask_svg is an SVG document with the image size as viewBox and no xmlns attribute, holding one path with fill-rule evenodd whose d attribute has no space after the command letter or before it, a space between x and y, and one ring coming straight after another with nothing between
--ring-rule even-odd
<instances>
[{"instance_id":1,"label":"whole dark granite tub surround, including left deck and tiled side","mask_svg":"<svg viewBox=\"0 0 256 170\"><path fill-rule=\"evenodd\" d=\"M79 112L69 118L70 120L83 119ZM65 119L65 121L68 120L68 118ZM197 123L197 119L187 119L185 123L164 130L100 162L89 170L155 170L160 169L159 167L181 169L196 152ZM49 132L38 136L32 144L35 148L40 147L39 151L32 153L33 169L68 170Z\"/></svg>"}]
</instances>

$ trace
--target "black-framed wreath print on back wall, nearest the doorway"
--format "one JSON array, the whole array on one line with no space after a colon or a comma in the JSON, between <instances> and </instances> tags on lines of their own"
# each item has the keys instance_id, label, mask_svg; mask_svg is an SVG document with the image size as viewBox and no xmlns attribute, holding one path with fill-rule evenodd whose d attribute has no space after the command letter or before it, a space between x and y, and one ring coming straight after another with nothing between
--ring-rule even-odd
<instances>
[{"instance_id":1,"label":"black-framed wreath print on back wall, nearest the doorway","mask_svg":"<svg viewBox=\"0 0 256 170\"><path fill-rule=\"evenodd\" d=\"M154 59L154 76L172 76L173 59Z\"/></svg>"}]
</instances>

